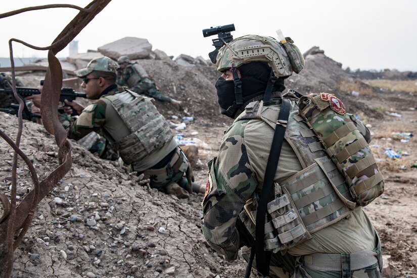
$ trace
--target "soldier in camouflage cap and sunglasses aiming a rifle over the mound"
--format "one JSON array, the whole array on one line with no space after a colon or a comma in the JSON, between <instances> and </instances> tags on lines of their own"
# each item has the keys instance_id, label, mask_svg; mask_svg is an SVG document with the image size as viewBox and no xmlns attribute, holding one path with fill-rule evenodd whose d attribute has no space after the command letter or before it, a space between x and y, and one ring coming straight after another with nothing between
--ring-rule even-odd
<instances>
[{"instance_id":1,"label":"soldier in camouflage cap and sunglasses aiming a rifle over the mound","mask_svg":"<svg viewBox=\"0 0 417 278\"><path fill-rule=\"evenodd\" d=\"M94 99L85 109L76 102L67 102L78 112L77 119L64 125L68 137L78 140L91 131L101 131L119 156L133 171L150 178L150 186L187 198L194 180L188 160L173 138L165 118L152 104L152 99L118 88L118 65L108 57L92 59L86 68L75 71L82 78L87 98ZM67 121L65 114L61 121ZM187 173L187 178L183 177ZM193 184L197 190L199 184Z\"/></svg>"}]
</instances>

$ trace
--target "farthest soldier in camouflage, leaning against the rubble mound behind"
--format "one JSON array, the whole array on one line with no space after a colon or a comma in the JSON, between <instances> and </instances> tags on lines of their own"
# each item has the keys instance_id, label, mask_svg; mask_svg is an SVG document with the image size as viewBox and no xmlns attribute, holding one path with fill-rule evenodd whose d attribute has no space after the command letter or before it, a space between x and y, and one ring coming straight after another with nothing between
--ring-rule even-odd
<instances>
[{"instance_id":1,"label":"farthest soldier in camouflage, leaning against the rubble mound behind","mask_svg":"<svg viewBox=\"0 0 417 278\"><path fill-rule=\"evenodd\" d=\"M179 109L181 108L182 102L174 100L170 97L164 96L157 88L145 69L138 64L130 63L130 59L127 56L121 56L117 63L120 68L117 71L117 84L119 86L128 86L137 94L145 94L155 100L161 102L169 102L176 105Z\"/></svg>"}]
</instances>

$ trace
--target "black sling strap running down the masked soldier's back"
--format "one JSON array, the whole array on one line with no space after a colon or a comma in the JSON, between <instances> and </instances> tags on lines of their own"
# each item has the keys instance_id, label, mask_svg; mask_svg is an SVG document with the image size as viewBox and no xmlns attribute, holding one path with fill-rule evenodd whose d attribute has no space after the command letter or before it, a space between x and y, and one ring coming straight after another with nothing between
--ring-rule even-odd
<instances>
[{"instance_id":1,"label":"black sling strap running down the masked soldier's back","mask_svg":"<svg viewBox=\"0 0 417 278\"><path fill-rule=\"evenodd\" d=\"M280 114L276 121L275 132L273 134L271 151L269 153L268 162L265 169L265 178L263 188L258 202L256 213L255 228L255 252L256 252L256 268L258 275L265 277L269 274L269 261L271 252L264 250L264 234L265 234L265 214L268 197L271 193L273 179L276 167L280 159L281 148L283 146L285 129L287 127L288 117L290 115L290 101L283 99L281 103Z\"/></svg>"}]
</instances>

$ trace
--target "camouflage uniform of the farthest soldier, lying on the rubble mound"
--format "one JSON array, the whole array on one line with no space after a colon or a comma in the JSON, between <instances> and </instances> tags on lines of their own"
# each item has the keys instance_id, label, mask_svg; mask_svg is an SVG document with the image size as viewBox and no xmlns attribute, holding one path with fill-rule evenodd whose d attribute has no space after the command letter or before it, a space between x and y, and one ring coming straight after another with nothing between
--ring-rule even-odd
<instances>
[{"instance_id":1,"label":"camouflage uniform of the farthest soldier, lying on the rubble mound","mask_svg":"<svg viewBox=\"0 0 417 278\"><path fill-rule=\"evenodd\" d=\"M135 62L134 64L137 64ZM140 66L139 64L137 64ZM142 66L140 66L142 68ZM145 71L145 70L144 70ZM136 76L135 80L138 80L136 84L129 84L128 80L132 76ZM161 102L172 102L172 98L164 96L155 86L155 83L149 79L149 77L141 77L134 69L133 64L129 63L123 70L119 69L117 74L117 84L119 86L128 86L137 94L144 94L155 100Z\"/></svg>"}]
</instances>

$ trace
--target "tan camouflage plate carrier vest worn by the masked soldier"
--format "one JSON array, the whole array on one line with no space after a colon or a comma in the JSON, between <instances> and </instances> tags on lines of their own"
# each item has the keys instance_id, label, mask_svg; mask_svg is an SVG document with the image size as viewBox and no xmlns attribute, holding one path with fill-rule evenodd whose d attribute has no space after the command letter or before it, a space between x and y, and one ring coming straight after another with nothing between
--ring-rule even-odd
<instances>
[{"instance_id":1,"label":"tan camouflage plate carrier vest worn by the masked soldier","mask_svg":"<svg viewBox=\"0 0 417 278\"><path fill-rule=\"evenodd\" d=\"M252 104L236 120L259 119L271 125L276 114L266 109L262 102ZM296 110L290 113L285 139L304 169L274 184L275 198L267 204L264 224L264 248L274 253L311 239L312 233L341 220L356 206L346 179ZM254 196L240 213L252 235L258 201Z\"/></svg>"}]
</instances>

